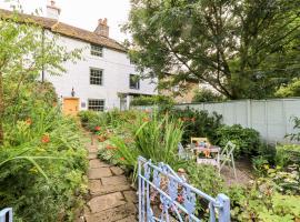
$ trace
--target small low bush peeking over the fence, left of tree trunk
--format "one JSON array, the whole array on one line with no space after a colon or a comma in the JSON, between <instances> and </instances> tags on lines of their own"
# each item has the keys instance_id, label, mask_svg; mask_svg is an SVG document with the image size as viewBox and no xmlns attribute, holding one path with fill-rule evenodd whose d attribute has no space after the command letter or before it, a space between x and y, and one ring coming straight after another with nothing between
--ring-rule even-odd
<instances>
[{"instance_id":1,"label":"small low bush peeking over the fence, left of tree trunk","mask_svg":"<svg viewBox=\"0 0 300 222\"><path fill-rule=\"evenodd\" d=\"M194 92L192 102L221 102L224 101L223 95L213 92L212 90L202 88Z\"/></svg>"}]
</instances>

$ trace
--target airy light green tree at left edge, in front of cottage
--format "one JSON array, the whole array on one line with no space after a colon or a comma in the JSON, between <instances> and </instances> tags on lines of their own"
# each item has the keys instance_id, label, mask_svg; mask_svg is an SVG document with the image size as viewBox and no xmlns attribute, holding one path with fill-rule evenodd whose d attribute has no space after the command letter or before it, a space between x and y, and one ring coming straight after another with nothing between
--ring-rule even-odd
<instances>
[{"instance_id":1,"label":"airy light green tree at left edge, in front of cottage","mask_svg":"<svg viewBox=\"0 0 300 222\"><path fill-rule=\"evenodd\" d=\"M62 63L80 58L80 49L67 51L58 37L32 18L19 13L20 7L0 18L0 145L3 143L6 108L14 104L26 83L39 78L42 70L60 74Z\"/></svg>"}]
</instances>

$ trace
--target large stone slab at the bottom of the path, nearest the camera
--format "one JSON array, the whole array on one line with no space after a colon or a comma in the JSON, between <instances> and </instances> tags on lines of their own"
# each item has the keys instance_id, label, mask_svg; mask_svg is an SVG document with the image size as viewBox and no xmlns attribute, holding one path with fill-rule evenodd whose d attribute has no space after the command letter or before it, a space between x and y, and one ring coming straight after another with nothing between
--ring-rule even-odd
<instances>
[{"instance_id":1,"label":"large stone slab at the bottom of the path, nearest the camera","mask_svg":"<svg viewBox=\"0 0 300 222\"><path fill-rule=\"evenodd\" d=\"M131 203L126 203L113 209L101 211L100 213L94 213L87 215L87 222L113 222L123 219L131 219L130 222L134 222L137 209Z\"/></svg>"}]
</instances>

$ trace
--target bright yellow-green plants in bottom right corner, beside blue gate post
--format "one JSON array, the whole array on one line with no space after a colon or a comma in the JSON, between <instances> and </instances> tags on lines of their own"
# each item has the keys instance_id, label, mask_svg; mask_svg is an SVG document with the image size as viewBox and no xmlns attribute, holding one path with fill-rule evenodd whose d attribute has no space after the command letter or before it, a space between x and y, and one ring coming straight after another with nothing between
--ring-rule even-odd
<instances>
[{"instance_id":1,"label":"bright yellow-green plants in bottom right corner, beside blue gate post","mask_svg":"<svg viewBox=\"0 0 300 222\"><path fill-rule=\"evenodd\" d=\"M300 215L299 195L283 195L269 182L256 181L249 188L228 191L233 221L297 221Z\"/></svg>"}]
</instances>

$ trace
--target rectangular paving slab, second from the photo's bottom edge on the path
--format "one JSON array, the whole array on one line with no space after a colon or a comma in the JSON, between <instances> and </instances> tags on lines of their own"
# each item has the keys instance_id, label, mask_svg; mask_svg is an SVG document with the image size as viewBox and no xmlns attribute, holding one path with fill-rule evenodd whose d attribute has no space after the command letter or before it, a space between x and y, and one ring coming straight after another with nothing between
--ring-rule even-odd
<instances>
[{"instance_id":1,"label":"rectangular paving slab, second from the photo's bottom edge on the path","mask_svg":"<svg viewBox=\"0 0 300 222\"><path fill-rule=\"evenodd\" d=\"M126 200L121 192L96 196L96 198L92 198L88 202L91 213L99 213L101 211L112 209L112 208L123 205L123 204L126 204Z\"/></svg>"}]
</instances>

